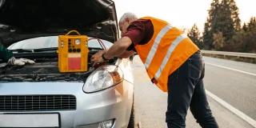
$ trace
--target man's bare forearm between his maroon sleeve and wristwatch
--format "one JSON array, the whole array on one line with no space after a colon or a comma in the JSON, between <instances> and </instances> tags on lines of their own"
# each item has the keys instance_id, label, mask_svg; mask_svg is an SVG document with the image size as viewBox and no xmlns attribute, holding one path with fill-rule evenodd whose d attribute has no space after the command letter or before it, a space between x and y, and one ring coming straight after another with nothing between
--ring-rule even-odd
<instances>
[{"instance_id":1,"label":"man's bare forearm between his maroon sleeve and wristwatch","mask_svg":"<svg viewBox=\"0 0 256 128\"><path fill-rule=\"evenodd\" d=\"M131 52L127 53L126 49L132 44L132 41L128 37L122 37L115 42L113 46L110 47L109 50L106 51L104 57L106 59L114 58L114 57L127 57L131 55ZM130 56L129 56L130 57ZM128 57L128 58L129 58Z\"/></svg>"}]
</instances>

